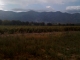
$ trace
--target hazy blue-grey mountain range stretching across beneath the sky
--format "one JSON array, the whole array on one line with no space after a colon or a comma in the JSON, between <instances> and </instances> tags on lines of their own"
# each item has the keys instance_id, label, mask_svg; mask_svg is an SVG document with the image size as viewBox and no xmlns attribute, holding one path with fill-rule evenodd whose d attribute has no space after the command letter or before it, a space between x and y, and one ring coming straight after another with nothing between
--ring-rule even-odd
<instances>
[{"instance_id":1,"label":"hazy blue-grey mountain range stretching across beneath the sky","mask_svg":"<svg viewBox=\"0 0 80 60\"><path fill-rule=\"evenodd\" d=\"M80 23L80 14L62 13L62 12L12 12L0 11L1 20L21 20L36 22L52 22L52 23Z\"/></svg>"}]
</instances>

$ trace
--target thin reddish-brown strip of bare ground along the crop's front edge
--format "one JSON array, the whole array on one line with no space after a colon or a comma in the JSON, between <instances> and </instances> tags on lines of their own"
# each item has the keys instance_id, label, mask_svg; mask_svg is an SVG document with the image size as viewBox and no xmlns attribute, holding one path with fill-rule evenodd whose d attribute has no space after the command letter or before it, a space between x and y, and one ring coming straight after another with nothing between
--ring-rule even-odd
<instances>
[{"instance_id":1,"label":"thin reddish-brown strip of bare ground along the crop's front edge","mask_svg":"<svg viewBox=\"0 0 80 60\"><path fill-rule=\"evenodd\" d=\"M37 36L37 35L44 36L44 35L50 35L50 34L53 34L54 36L60 36L60 35L63 35L63 33L65 33L65 32L15 33L15 34L0 34L0 36L22 36L22 35L25 35L25 36Z\"/></svg>"}]
</instances>

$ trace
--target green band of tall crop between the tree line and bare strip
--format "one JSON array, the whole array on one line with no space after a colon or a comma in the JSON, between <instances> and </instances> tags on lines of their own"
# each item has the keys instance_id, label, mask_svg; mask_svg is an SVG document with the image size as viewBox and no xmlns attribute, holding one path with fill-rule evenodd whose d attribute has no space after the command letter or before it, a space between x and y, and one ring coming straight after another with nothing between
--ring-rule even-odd
<instances>
[{"instance_id":1,"label":"green band of tall crop between the tree line and bare strip","mask_svg":"<svg viewBox=\"0 0 80 60\"><path fill-rule=\"evenodd\" d=\"M80 31L80 26L0 26L0 34Z\"/></svg>"}]
</instances>

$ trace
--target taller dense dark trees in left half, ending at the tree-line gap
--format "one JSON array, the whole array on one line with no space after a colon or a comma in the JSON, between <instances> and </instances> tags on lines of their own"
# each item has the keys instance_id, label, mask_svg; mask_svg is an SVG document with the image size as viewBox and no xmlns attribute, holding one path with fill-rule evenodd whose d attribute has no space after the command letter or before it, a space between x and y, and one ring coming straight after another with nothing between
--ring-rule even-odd
<instances>
[{"instance_id":1,"label":"taller dense dark trees in left half, ending at the tree-line gap","mask_svg":"<svg viewBox=\"0 0 80 60\"><path fill-rule=\"evenodd\" d=\"M20 20L0 20L0 25L42 25L44 26L44 22L28 22L28 21L20 21Z\"/></svg>"}]
</instances>

